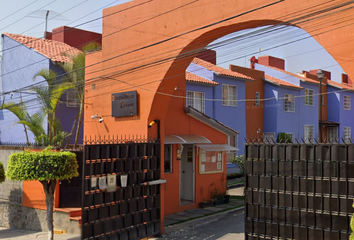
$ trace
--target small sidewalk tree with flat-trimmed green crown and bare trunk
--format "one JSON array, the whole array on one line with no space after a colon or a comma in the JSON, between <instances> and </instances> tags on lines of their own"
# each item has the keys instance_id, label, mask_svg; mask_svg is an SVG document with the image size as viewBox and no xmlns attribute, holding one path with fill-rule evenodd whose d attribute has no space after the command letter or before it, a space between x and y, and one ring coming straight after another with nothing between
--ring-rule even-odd
<instances>
[{"instance_id":1,"label":"small sidewalk tree with flat-trimmed green crown and bare trunk","mask_svg":"<svg viewBox=\"0 0 354 240\"><path fill-rule=\"evenodd\" d=\"M24 151L9 157L6 178L17 181L38 180L44 189L47 207L48 239L53 240L53 204L56 184L79 176L76 155L71 152ZM1 176L1 175L0 175Z\"/></svg>"}]
</instances>

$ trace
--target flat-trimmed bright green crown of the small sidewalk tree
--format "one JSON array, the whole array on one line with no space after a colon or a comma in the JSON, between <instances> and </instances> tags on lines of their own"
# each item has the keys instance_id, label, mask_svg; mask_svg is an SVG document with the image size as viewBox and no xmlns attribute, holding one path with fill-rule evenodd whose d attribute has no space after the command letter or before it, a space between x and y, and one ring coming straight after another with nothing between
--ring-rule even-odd
<instances>
[{"instance_id":1,"label":"flat-trimmed bright green crown of the small sidewalk tree","mask_svg":"<svg viewBox=\"0 0 354 240\"><path fill-rule=\"evenodd\" d=\"M24 151L9 157L6 177L10 180L49 181L79 176L76 155L71 152Z\"/></svg>"}]
</instances>

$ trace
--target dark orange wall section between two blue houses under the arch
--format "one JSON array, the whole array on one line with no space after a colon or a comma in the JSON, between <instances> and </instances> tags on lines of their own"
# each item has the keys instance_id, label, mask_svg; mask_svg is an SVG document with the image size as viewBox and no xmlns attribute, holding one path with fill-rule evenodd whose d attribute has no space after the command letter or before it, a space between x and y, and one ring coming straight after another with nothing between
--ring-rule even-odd
<instances>
[{"instance_id":1,"label":"dark orange wall section between two blue houses under the arch","mask_svg":"<svg viewBox=\"0 0 354 240\"><path fill-rule=\"evenodd\" d=\"M254 78L254 81L246 81L246 99L255 99L256 92L259 92L261 99L264 99L264 72L251 68L230 65L230 70L243 73ZM255 105L255 101L246 102L246 133L247 138L257 138L257 130L261 129L259 136L264 131L264 108L265 102L261 101L260 106ZM241 140L241 139L240 139ZM243 141L243 139L241 140ZM241 146L240 146L241 147Z\"/></svg>"}]
</instances>

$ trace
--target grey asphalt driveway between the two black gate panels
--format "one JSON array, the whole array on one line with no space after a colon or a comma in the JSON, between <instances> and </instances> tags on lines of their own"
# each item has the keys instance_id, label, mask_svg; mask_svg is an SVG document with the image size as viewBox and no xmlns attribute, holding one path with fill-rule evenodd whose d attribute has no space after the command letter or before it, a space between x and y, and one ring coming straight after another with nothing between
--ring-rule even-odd
<instances>
[{"instance_id":1,"label":"grey asphalt driveway between the two black gate panels","mask_svg":"<svg viewBox=\"0 0 354 240\"><path fill-rule=\"evenodd\" d=\"M193 224L168 232L153 239L168 240L243 240L244 213L227 213L209 221Z\"/></svg>"}]
</instances>

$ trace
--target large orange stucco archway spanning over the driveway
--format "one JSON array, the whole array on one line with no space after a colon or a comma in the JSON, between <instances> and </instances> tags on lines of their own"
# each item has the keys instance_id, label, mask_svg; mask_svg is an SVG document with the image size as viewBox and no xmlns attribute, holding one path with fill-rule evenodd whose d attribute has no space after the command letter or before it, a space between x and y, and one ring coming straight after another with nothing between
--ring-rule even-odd
<instances>
[{"instance_id":1,"label":"large orange stucco archway spanning over the driveway","mask_svg":"<svg viewBox=\"0 0 354 240\"><path fill-rule=\"evenodd\" d=\"M102 51L87 58L87 66L94 65L86 70L85 135L147 135L153 119L162 120L163 135L171 95L179 95L175 87L192 58L211 41L246 28L296 25L353 78L350 7L325 0L135 0L105 9ZM110 117L110 94L129 90L138 90L143 99L138 117ZM90 118L95 114L105 117L104 124Z\"/></svg>"}]
</instances>

